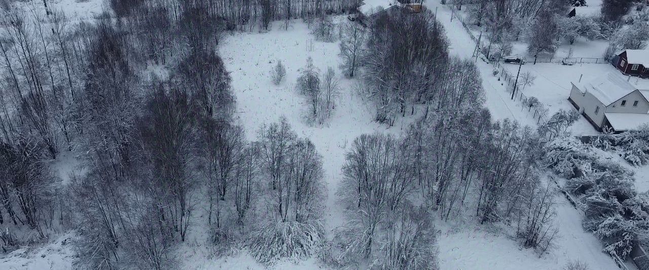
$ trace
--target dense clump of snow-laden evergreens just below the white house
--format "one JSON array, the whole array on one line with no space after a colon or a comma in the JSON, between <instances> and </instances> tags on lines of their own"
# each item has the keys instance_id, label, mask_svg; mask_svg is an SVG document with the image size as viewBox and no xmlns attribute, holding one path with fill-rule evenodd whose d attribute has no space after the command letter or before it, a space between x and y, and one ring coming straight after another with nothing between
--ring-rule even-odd
<instances>
[{"instance_id":1,"label":"dense clump of snow-laden evergreens just below the white house","mask_svg":"<svg viewBox=\"0 0 649 270\"><path fill-rule=\"evenodd\" d=\"M559 138L547 143L544 162L555 173L569 178L565 188L580 197L580 207L585 213L583 228L604 242L604 251L624 259L635 241L646 241L649 198L645 194L636 195L633 171L617 162L598 158L591 146L616 149L622 141L628 138L602 136L589 144L574 138Z\"/></svg>"}]
</instances>

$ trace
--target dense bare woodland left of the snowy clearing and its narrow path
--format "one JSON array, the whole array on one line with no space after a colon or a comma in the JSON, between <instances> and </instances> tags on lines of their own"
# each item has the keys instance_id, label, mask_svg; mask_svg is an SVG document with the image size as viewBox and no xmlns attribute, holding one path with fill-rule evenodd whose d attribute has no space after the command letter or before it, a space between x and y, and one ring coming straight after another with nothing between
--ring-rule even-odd
<instances>
[{"instance_id":1,"label":"dense bare woodland left of the snowy clearing and its narrow path","mask_svg":"<svg viewBox=\"0 0 649 270\"><path fill-rule=\"evenodd\" d=\"M286 120L254 141L232 120L226 4L241 3L111 1L117 18L93 23L1 10L5 251L73 229L78 266L167 269L204 224L217 250L247 245L261 262L315 252L321 156ZM62 180L53 160L68 154L80 172Z\"/></svg>"}]
</instances>

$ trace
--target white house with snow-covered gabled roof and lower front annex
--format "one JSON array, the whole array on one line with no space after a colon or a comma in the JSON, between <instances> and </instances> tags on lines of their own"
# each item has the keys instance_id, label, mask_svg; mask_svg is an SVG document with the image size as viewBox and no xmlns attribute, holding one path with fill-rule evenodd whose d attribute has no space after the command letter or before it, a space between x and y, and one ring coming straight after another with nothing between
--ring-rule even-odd
<instances>
[{"instance_id":1,"label":"white house with snow-covered gabled roof and lower front annex","mask_svg":"<svg viewBox=\"0 0 649 270\"><path fill-rule=\"evenodd\" d=\"M639 90L617 73L571 83L568 101L595 127L622 132L649 123L649 90Z\"/></svg>"}]
</instances>

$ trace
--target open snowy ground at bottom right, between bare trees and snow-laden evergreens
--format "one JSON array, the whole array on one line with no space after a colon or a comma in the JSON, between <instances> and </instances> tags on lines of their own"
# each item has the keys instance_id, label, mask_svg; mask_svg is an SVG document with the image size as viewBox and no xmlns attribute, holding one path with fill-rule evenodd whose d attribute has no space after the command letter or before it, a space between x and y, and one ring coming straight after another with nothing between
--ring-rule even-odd
<instances>
[{"instance_id":1,"label":"open snowy ground at bottom right, between bare trees and snow-laden evergreens","mask_svg":"<svg viewBox=\"0 0 649 270\"><path fill-rule=\"evenodd\" d=\"M593 234L582 229L582 215L557 193L559 238L549 254L522 249L513 238L491 226L442 226L438 239L440 269L562 269L570 260L587 262L591 270L618 269Z\"/></svg>"}]
</instances>

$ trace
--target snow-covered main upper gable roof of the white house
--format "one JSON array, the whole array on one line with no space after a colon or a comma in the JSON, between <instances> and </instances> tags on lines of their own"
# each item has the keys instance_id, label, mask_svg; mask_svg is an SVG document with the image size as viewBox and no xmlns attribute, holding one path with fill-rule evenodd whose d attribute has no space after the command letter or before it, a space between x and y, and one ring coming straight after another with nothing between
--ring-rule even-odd
<instances>
[{"instance_id":1,"label":"snow-covered main upper gable roof of the white house","mask_svg":"<svg viewBox=\"0 0 649 270\"><path fill-rule=\"evenodd\" d=\"M635 86L627 82L626 78L617 72L609 72L593 80L575 84L575 86L582 92L593 94L601 103L604 103L604 106L608 106L636 90Z\"/></svg>"}]
</instances>

